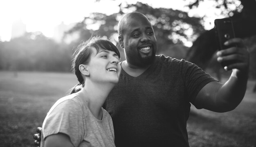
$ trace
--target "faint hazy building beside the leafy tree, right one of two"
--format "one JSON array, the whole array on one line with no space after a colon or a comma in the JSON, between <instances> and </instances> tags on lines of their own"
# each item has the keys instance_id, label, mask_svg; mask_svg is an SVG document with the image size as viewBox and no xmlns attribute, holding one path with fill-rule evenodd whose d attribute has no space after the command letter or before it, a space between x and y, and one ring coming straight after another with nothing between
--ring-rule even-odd
<instances>
[{"instance_id":1,"label":"faint hazy building beside the leafy tree, right one of two","mask_svg":"<svg viewBox=\"0 0 256 147\"><path fill-rule=\"evenodd\" d=\"M72 23L70 25L65 25L64 22L61 22L60 25L57 25L55 28L54 28L54 36L53 36L53 39L56 41L56 42L66 42L66 43L70 43L72 42L73 40L76 40L79 38L79 34L78 33L72 33L72 34L69 34L68 36L65 37L65 39L63 40L63 36L64 36L64 33L70 29L72 29L72 27L74 27L76 25L76 23Z\"/></svg>"}]
</instances>

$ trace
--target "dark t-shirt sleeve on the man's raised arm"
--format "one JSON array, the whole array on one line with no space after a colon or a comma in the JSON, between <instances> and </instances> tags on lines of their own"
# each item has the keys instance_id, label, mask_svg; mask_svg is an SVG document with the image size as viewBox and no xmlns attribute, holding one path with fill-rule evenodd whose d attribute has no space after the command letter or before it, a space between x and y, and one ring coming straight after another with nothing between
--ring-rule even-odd
<instances>
[{"instance_id":1,"label":"dark t-shirt sleeve on the man's raised arm","mask_svg":"<svg viewBox=\"0 0 256 147\"><path fill-rule=\"evenodd\" d=\"M185 77L186 94L189 101L193 103L198 92L209 82L218 81L212 78L209 74L205 73L197 65L183 60L183 71ZM200 108L199 108L200 109Z\"/></svg>"}]
</instances>

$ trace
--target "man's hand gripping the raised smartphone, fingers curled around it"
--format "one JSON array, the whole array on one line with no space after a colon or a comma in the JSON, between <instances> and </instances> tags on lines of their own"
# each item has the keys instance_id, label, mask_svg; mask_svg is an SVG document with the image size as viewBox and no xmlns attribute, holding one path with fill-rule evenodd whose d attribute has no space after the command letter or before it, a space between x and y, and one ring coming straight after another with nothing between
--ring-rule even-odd
<instances>
[{"instance_id":1,"label":"man's hand gripping the raised smartphone, fingers curled around it","mask_svg":"<svg viewBox=\"0 0 256 147\"><path fill-rule=\"evenodd\" d=\"M244 42L240 38L233 38L224 43L224 45L232 45L228 49L217 52L218 62L232 61L233 63L227 65L225 70L238 69L239 72L248 73L249 69L249 52Z\"/></svg>"}]
</instances>

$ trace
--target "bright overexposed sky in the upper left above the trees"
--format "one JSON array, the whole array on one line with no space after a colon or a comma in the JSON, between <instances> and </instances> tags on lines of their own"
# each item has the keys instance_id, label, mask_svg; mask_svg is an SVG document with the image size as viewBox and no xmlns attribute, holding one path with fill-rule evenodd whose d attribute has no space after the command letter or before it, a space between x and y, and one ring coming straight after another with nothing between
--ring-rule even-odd
<instances>
[{"instance_id":1,"label":"bright overexposed sky in the upper left above the trees","mask_svg":"<svg viewBox=\"0 0 256 147\"><path fill-rule=\"evenodd\" d=\"M27 32L41 31L45 36L53 37L54 27L61 22L66 25L81 22L92 12L107 14L118 12L118 8L106 10L106 6L113 2L112 0L100 3L94 0L3 0L0 2L0 40L10 40L12 23L17 20L22 20Z\"/></svg>"}]
</instances>

